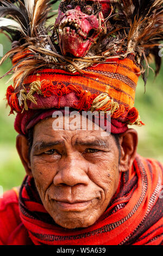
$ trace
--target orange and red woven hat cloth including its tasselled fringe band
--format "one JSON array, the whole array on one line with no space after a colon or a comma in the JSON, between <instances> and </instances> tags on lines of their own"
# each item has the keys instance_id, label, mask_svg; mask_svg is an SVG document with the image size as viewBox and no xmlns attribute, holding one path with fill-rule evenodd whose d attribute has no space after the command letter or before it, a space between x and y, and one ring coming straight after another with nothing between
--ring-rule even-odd
<instances>
[{"instance_id":1,"label":"orange and red woven hat cloth including its tasselled fringe band","mask_svg":"<svg viewBox=\"0 0 163 256\"><path fill-rule=\"evenodd\" d=\"M29 52L16 54L14 64L26 54ZM36 109L39 112L40 109L62 107L88 111L97 96L104 93L109 98L96 110L111 111L111 118L118 121L117 125L112 125L112 133L124 132L127 130L124 122L134 124L139 119L139 112L134 107L139 76L140 69L135 64L133 54L129 54L125 59L115 58L111 62L90 66L83 70L83 74L79 72L73 74L60 69L38 70L28 75L20 86L15 88L14 81L14 87L8 87L7 100L11 108L10 113L14 111L18 113L15 129L25 133L24 126L27 123L24 123L24 118L27 118L27 121L29 121L28 117L31 118L27 111L33 113ZM112 102L118 107L113 106ZM139 123L142 124L141 121Z\"/></svg>"}]
</instances>

